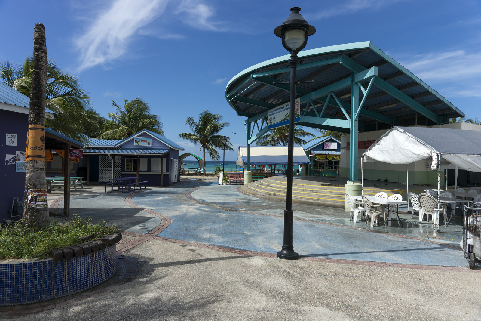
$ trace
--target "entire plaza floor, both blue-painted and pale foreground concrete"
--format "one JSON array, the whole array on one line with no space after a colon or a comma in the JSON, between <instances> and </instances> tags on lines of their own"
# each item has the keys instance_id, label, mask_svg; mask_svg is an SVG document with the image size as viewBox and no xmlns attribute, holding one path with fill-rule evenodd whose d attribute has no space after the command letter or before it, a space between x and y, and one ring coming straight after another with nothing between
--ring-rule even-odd
<instances>
[{"instance_id":1,"label":"entire plaza floor, both blue-painted and pale foreground concrete","mask_svg":"<svg viewBox=\"0 0 481 321\"><path fill-rule=\"evenodd\" d=\"M283 205L213 183L182 181L142 191L129 201L139 208L127 205L127 193L103 193L96 187L76 192L72 213L110 219L136 235L146 235L158 222L142 208L158 211L172 223L160 237L146 237L123 252L135 265L130 282L16 320L480 320L478 270L333 264L306 257L287 261L165 239L278 250L282 218L277 216ZM294 205L299 218L309 218L294 222L295 249L303 255L467 265L461 251L452 247L353 229L348 221L342 224L348 213L311 207Z\"/></svg>"}]
</instances>

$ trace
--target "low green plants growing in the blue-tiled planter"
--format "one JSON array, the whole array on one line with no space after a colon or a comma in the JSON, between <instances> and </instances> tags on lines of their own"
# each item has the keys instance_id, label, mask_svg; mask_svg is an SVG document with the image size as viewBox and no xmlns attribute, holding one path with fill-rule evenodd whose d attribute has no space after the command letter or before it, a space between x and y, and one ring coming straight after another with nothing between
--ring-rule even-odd
<instances>
[{"instance_id":1,"label":"low green plants growing in the blue-tiled planter","mask_svg":"<svg viewBox=\"0 0 481 321\"><path fill-rule=\"evenodd\" d=\"M0 230L0 259L46 258L53 248L82 243L78 237L94 234L95 237L110 235L118 230L107 226L108 221L92 223L92 218L79 218L74 215L70 221L59 224L54 220L50 225L36 228L23 226L24 220L9 224Z\"/></svg>"}]
</instances>

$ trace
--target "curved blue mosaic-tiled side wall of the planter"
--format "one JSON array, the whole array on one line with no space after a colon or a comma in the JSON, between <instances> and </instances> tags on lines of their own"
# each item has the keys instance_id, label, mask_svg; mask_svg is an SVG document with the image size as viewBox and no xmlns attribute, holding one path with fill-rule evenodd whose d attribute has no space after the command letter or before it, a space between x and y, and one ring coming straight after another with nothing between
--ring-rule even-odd
<instances>
[{"instance_id":1,"label":"curved blue mosaic-tiled side wall of the planter","mask_svg":"<svg viewBox=\"0 0 481 321\"><path fill-rule=\"evenodd\" d=\"M89 289L114 275L115 260L114 244L60 261L0 264L0 306L38 302Z\"/></svg>"}]
</instances>

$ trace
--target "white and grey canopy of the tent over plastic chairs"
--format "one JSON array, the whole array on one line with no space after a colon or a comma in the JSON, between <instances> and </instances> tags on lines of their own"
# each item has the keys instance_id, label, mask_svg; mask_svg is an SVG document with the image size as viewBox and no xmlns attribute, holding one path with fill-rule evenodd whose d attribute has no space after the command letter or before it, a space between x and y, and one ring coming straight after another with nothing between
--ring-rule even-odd
<instances>
[{"instance_id":1,"label":"white and grey canopy of the tent over plastic chairs","mask_svg":"<svg viewBox=\"0 0 481 321\"><path fill-rule=\"evenodd\" d=\"M451 128L392 127L362 155L365 162L410 164L430 158L431 169L454 164L481 172L481 131Z\"/></svg>"}]
</instances>

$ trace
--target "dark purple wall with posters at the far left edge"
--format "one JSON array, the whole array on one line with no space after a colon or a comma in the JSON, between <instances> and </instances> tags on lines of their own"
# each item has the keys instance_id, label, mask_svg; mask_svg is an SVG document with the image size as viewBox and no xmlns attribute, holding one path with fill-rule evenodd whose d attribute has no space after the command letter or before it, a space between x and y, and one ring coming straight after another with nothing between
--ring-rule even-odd
<instances>
[{"instance_id":1,"label":"dark purple wall with posters at the far left edge","mask_svg":"<svg viewBox=\"0 0 481 321\"><path fill-rule=\"evenodd\" d=\"M13 197L22 200L25 190L25 173L15 173L15 165L5 165L6 154L25 151L28 129L28 115L0 109L0 156L2 158L0 177L0 221L10 219L8 210L12 207ZM6 145L6 134L17 134L17 146ZM18 217L14 219L19 219Z\"/></svg>"}]
</instances>

